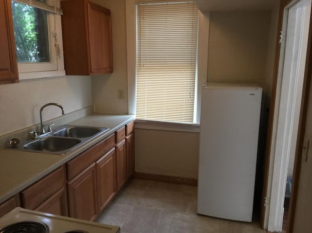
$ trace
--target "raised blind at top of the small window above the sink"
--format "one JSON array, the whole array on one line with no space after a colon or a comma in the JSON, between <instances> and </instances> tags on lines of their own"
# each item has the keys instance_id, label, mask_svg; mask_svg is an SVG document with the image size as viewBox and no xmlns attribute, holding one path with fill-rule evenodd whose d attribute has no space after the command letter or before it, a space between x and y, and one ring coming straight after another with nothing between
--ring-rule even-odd
<instances>
[{"instance_id":1,"label":"raised blind at top of the small window above the sink","mask_svg":"<svg viewBox=\"0 0 312 233\"><path fill-rule=\"evenodd\" d=\"M29 6L37 7L55 14L62 15L61 0L14 0Z\"/></svg>"}]
</instances>

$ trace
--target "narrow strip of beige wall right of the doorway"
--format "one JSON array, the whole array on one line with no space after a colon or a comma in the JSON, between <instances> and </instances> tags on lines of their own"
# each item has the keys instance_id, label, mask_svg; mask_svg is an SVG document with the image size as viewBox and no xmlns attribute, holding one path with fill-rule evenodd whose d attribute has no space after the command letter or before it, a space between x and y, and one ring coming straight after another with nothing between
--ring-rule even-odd
<instances>
[{"instance_id":1,"label":"narrow strip of beige wall right of the doorway","mask_svg":"<svg viewBox=\"0 0 312 233\"><path fill-rule=\"evenodd\" d=\"M310 141L308 160L301 162L297 203L295 209L293 233L311 233L312 229L312 82L308 102L305 137Z\"/></svg>"}]
</instances>

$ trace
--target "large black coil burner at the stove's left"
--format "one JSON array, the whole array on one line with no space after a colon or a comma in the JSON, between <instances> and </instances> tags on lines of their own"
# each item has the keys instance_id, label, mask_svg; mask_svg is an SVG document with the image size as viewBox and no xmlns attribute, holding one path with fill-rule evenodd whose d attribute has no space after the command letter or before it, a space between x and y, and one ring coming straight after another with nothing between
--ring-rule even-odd
<instances>
[{"instance_id":1,"label":"large black coil burner at the stove's left","mask_svg":"<svg viewBox=\"0 0 312 233\"><path fill-rule=\"evenodd\" d=\"M49 227L41 222L22 221L0 229L0 233L49 233Z\"/></svg>"}]
</instances>

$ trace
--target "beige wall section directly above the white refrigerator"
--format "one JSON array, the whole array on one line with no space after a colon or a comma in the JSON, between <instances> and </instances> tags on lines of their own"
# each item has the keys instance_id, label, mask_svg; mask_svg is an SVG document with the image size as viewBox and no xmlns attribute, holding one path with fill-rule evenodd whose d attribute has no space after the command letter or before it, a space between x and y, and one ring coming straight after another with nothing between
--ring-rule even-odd
<instances>
[{"instance_id":1,"label":"beige wall section directly above the white refrigerator","mask_svg":"<svg viewBox=\"0 0 312 233\"><path fill-rule=\"evenodd\" d=\"M210 14L208 81L265 84L270 12Z\"/></svg>"}]
</instances>

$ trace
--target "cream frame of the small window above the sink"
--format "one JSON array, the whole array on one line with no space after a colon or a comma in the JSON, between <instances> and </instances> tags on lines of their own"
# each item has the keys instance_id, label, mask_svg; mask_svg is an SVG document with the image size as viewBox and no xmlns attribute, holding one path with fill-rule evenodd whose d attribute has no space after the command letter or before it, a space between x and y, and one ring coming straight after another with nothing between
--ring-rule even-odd
<instances>
[{"instance_id":1,"label":"cream frame of the small window above the sink","mask_svg":"<svg viewBox=\"0 0 312 233\"><path fill-rule=\"evenodd\" d=\"M55 14L49 11L46 12L48 21L50 62L34 62L34 63L18 62L18 72L20 80L65 75L64 56L62 54L63 40L61 28L61 16L59 14ZM54 33L56 33L56 37L53 36ZM57 55L56 52L55 46L56 42L59 45L59 51L61 51L59 55Z\"/></svg>"}]
</instances>

